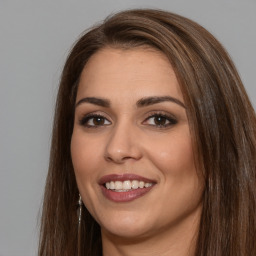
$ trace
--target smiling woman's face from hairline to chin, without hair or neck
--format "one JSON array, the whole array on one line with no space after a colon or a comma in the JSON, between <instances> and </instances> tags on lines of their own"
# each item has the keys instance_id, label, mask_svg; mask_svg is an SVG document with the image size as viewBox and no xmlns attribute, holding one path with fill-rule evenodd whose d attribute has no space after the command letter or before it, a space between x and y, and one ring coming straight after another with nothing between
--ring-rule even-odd
<instances>
[{"instance_id":1,"label":"smiling woman's face from hairline to chin, without hair or neck","mask_svg":"<svg viewBox=\"0 0 256 256\"><path fill-rule=\"evenodd\" d=\"M90 58L78 86L71 154L103 236L187 232L199 220L203 186L186 107L162 53L105 48Z\"/></svg>"}]
</instances>

